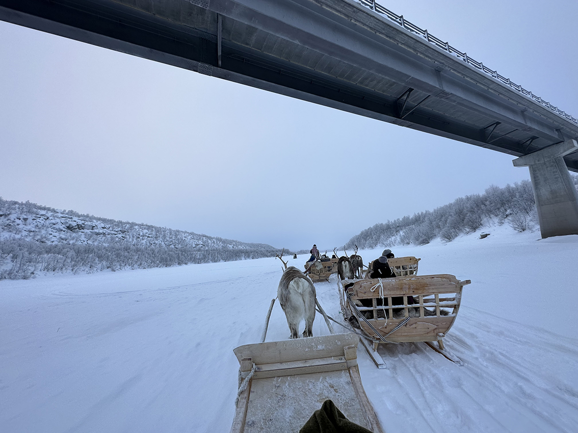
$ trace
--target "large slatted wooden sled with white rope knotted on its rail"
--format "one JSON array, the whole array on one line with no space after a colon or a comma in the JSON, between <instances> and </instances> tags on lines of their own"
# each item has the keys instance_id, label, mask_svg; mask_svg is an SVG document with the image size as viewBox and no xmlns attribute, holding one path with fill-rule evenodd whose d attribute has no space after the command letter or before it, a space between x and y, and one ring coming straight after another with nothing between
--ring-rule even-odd
<instances>
[{"instance_id":1,"label":"large slatted wooden sled with white rope knotted on its rail","mask_svg":"<svg viewBox=\"0 0 578 433\"><path fill-rule=\"evenodd\" d=\"M423 341L447 359L462 365L443 344L443 337L455 322L460 309L462 288L470 280L454 275L412 275L340 282L344 316L353 315L361 330L373 342L372 358L380 367L377 346L380 343ZM383 298L382 298L383 296ZM412 296L414 304L407 301ZM399 305L394 305L392 298ZM402 302L399 302L403 300ZM431 342L437 342L436 348ZM384 363L383 363L384 364Z\"/></svg>"}]
</instances>

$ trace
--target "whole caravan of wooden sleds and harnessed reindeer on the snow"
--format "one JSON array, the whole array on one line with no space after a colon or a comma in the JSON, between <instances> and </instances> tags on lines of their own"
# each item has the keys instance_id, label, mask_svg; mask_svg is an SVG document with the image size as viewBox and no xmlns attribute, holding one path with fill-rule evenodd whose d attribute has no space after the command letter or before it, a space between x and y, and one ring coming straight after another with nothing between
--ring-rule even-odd
<instances>
[{"instance_id":1,"label":"whole caravan of wooden sleds and harnessed reindeer on the snow","mask_svg":"<svg viewBox=\"0 0 578 433\"><path fill-rule=\"evenodd\" d=\"M357 429L354 431L383 433L361 383L359 342L378 368L387 367L377 352L379 345L404 342L425 342L463 365L444 347L443 338L455 322L462 288L469 280L460 281L450 274L418 275L420 259L391 255L384 260L385 254L379 263L369 263L364 273L357 247L351 257L347 253L337 257L334 249L334 257L307 262L302 272L287 266L283 252L276 255L284 264L277 298L291 338L265 342L273 299L261 342L234 350L240 367L231 433L313 432L320 431L320 423L331 424L331 428L347 423ZM372 278L379 268L388 268L395 278ZM314 282L329 281L333 274L338 274L335 296L339 296L343 323L329 317L316 296ZM315 311L323 316L329 335L313 336ZM302 337L306 338L298 334L301 321L305 321ZM335 333L331 322L344 331Z\"/></svg>"}]
</instances>

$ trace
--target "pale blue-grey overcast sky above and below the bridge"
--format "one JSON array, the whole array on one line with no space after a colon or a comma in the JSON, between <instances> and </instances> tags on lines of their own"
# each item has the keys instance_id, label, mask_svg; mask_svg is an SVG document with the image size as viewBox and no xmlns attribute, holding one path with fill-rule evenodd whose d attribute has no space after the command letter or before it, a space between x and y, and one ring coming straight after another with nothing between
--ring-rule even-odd
<instances>
[{"instance_id":1,"label":"pale blue-grey overcast sky above and below the bridge","mask_svg":"<svg viewBox=\"0 0 578 433\"><path fill-rule=\"evenodd\" d=\"M380 3L578 116L576 0ZM529 179L512 159L0 21L6 200L331 250Z\"/></svg>"}]
</instances>

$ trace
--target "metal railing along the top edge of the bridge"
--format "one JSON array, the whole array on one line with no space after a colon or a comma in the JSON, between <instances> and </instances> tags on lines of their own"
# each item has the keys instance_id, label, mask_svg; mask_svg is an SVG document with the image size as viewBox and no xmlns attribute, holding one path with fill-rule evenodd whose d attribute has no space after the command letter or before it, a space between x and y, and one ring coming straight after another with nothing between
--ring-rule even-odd
<instances>
[{"instance_id":1,"label":"metal railing along the top edge of the bridge","mask_svg":"<svg viewBox=\"0 0 578 433\"><path fill-rule=\"evenodd\" d=\"M358 0L362 5L366 6L367 8L374 10L375 12L386 16L389 20L393 21L394 23L398 24L399 26L405 28L407 31L415 33L416 35L420 36L427 40L427 42L435 45L438 48L441 48L447 53L454 55L454 57L462 59L466 64L473 66L476 69L481 70L482 72L488 74L489 76L493 77L494 79L501 81L501 83L508 85L510 88L520 92L521 94L528 96L528 98L535 100L539 104L542 104L544 107L549 108L550 110L554 111L555 113L560 114L562 117L568 119L569 121L578 124L578 119L572 117L570 114L566 113L565 111L560 110L558 107L553 106L551 103L543 100L540 96L534 95L531 91L523 88L521 85L514 83L509 78L504 77L503 75L499 74L496 70L488 68L482 62L478 62L473 58L469 57L468 54L462 53L460 50L457 50L453 46L451 46L447 42L443 42L443 40L436 38L433 35L430 35L426 30L417 27L417 25L410 23L403 15L397 15L391 10L384 8L375 0Z\"/></svg>"}]
</instances>

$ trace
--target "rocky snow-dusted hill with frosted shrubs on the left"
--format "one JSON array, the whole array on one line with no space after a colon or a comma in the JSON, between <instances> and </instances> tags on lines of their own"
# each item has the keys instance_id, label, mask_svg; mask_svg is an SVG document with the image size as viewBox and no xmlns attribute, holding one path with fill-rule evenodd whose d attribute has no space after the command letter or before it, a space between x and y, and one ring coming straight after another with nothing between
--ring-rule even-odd
<instances>
[{"instance_id":1,"label":"rocky snow-dusted hill with frosted shrubs on the left","mask_svg":"<svg viewBox=\"0 0 578 433\"><path fill-rule=\"evenodd\" d=\"M0 279L272 257L279 249L0 198Z\"/></svg>"}]
</instances>

